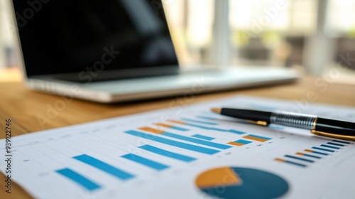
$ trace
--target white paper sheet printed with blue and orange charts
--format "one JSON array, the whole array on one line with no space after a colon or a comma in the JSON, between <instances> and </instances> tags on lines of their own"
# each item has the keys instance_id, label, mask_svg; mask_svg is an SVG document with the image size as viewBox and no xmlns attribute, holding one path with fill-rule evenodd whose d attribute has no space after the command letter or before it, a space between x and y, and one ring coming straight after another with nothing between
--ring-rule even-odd
<instances>
[{"instance_id":1,"label":"white paper sheet printed with blue and orange charts","mask_svg":"<svg viewBox=\"0 0 355 199\"><path fill-rule=\"evenodd\" d=\"M2 139L1 157L35 198L355 198L354 142L211 107L355 122L352 107L236 96Z\"/></svg>"}]
</instances>

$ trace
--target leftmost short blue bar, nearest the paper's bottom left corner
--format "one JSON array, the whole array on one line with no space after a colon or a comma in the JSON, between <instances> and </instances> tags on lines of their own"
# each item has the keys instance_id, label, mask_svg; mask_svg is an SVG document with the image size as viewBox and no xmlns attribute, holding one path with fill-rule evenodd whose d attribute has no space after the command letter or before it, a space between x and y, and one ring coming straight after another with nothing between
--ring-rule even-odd
<instances>
[{"instance_id":1,"label":"leftmost short blue bar, nearest the paper's bottom left corner","mask_svg":"<svg viewBox=\"0 0 355 199\"><path fill-rule=\"evenodd\" d=\"M79 173L72 171L70 168L63 168L55 172L60 173L62 176L65 176L72 181L75 181L76 183L82 185L84 188L87 188L87 190L95 190L101 188L101 186L97 183L90 181Z\"/></svg>"}]
</instances>

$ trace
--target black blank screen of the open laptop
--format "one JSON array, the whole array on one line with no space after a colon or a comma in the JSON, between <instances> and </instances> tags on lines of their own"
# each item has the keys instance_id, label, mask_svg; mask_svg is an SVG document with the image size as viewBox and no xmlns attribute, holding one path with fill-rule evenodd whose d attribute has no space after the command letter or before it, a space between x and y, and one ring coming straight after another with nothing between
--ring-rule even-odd
<instances>
[{"instance_id":1,"label":"black blank screen of the open laptop","mask_svg":"<svg viewBox=\"0 0 355 199\"><path fill-rule=\"evenodd\" d=\"M160 0L13 0L13 8L28 77L84 81L178 70Z\"/></svg>"}]
</instances>

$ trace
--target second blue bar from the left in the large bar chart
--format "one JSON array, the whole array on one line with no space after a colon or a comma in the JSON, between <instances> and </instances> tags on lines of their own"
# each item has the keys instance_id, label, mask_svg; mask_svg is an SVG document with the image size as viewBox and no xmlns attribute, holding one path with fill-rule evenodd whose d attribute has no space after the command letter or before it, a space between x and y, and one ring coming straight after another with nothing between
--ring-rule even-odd
<instances>
[{"instance_id":1,"label":"second blue bar from the left in the large bar chart","mask_svg":"<svg viewBox=\"0 0 355 199\"><path fill-rule=\"evenodd\" d=\"M83 163L87 163L90 166L94 166L95 168L99 168L99 170L109 173L112 176L120 178L121 180L128 180L134 177L132 174L126 173L125 171L122 171L119 168L115 168L114 166L104 163L103 161L99 161L97 158L94 158L92 156L83 154L72 158L75 158L76 160L81 161Z\"/></svg>"}]
</instances>

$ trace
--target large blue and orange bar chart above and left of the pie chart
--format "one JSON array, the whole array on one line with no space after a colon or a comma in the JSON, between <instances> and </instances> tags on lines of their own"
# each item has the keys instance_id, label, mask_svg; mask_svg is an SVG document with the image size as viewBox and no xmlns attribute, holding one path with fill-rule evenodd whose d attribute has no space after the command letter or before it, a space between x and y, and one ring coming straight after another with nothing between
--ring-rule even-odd
<instances>
[{"instance_id":1,"label":"large blue and orange bar chart above and left of the pie chart","mask_svg":"<svg viewBox=\"0 0 355 199\"><path fill-rule=\"evenodd\" d=\"M200 119L210 119L207 117L199 116ZM195 133L194 130L187 127L195 127L197 129L207 129L209 131L219 131L222 133L229 132L241 136L241 139L236 141L229 141L225 144L215 142L215 137L207 136L202 133ZM205 122L203 120L190 119L188 117L178 119L169 119L165 122L153 122L150 126L138 127L136 129L131 129L124 131L125 134L130 136L135 136L142 139L148 139L160 144L163 146L177 147L187 151L195 151L200 154L212 156L226 149L232 147L244 146L246 144L252 144L253 142L265 142L271 140L270 137L259 136L256 134L247 134L246 132L238 131L236 129L223 129L218 127L219 123L217 119L214 119L214 122ZM175 131L175 133L169 131ZM335 146L337 147L337 146ZM175 161L180 161L183 163L190 163L192 161L198 160L197 157L189 156L187 154L176 153L174 151L169 151L164 149L164 147L154 146L154 144L143 144L138 146L138 149L147 151L151 154L158 156L164 156L165 158L170 158ZM112 166L109 163L99 160L93 156L87 154L81 154L78 156L72 156L73 159L85 163L93 168L97 168L104 173L109 174L118 178L120 181L129 181L130 179L136 178L136 174L130 173L129 171L124 171L124 168L118 168ZM164 163L161 161L155 161L149 158L146 155L138 155L133 153L123 154L119 158L124 158L131 163L138 164L145 168L151 169L153 171L164 171L171 167L169 163ZM70 168L62 168L56 171L62 176L70 179L71 181L78 183L87 190L96 190L102 186L96 182L90 180L86 176L73 171Z\"/></svg>"}]
</instances>

